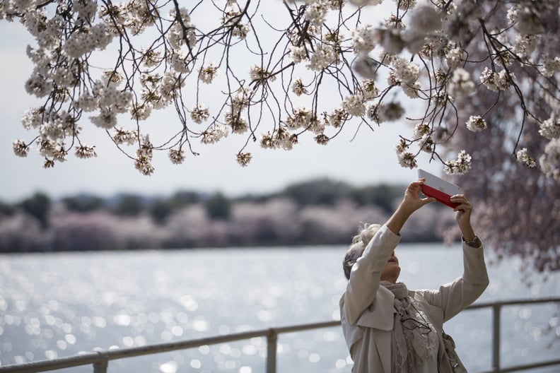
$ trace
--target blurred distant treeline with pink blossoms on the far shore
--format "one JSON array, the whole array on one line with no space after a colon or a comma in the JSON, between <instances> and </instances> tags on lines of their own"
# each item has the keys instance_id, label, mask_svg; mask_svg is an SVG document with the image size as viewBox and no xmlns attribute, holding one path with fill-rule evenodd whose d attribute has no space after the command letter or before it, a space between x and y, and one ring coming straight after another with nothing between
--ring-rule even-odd
<instances>
[{"instance_id":1,"label":"blurred distant treeline with pink blossoms on the far shore","mask_svg":"<svg viewBox=\"0 0 560 373\"><path fill-rule=\"evenodd\" d=\"M54 201L36 193L0 202L0 251L349 244L361 223L384 223L403 191L403 185L354 187L314 179L235 198L177 191ZM448 209L432 203L407 222L403 240L441 241L453 220Z\"/></svg>"}]
</instances>

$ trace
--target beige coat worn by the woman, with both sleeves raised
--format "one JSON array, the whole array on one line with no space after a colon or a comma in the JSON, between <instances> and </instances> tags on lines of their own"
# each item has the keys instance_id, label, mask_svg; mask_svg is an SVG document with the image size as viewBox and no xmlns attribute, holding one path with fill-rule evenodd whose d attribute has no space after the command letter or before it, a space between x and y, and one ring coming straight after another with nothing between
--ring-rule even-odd
<instances>
[{"instance_id":1,"label":"beige coat worn by the woman, with both sleeves raised","mask_svg":"<svg viewBox=\"0 0 560 373\"><path fill-rule=\"evenodd\" d=\"M380 273L399 240L385 225L380 228L352 267L340 300L342 331L354 360L354 373L391 373L395 296L380 286ZM465 270L453 283L438 290L409 291L438 333L438 372L452 372L443 347L443 323L477 300L489 283L482 247L463 243L463 262Z\"/></svg>"}]
</instances>

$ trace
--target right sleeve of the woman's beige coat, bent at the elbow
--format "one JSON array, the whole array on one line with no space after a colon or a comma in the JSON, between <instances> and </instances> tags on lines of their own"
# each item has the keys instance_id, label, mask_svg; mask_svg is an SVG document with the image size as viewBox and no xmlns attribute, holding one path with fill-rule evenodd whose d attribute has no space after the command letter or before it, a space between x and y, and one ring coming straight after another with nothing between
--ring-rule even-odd
<instances>
[{"instance_id":1,"label":"right sleeve of the woman's beige coat, bent at the elbow","mask_svg":"<svg viewBox=\"0 0 560 373\"><path fill-rule=\"evenodd\" d=\"M438 290L419 291L429 304L443 309L443 322L477 300L489 284L483 247L469 247L463 242L462 250L464 270L460 278Z\"/></svg>"}]
</instances>

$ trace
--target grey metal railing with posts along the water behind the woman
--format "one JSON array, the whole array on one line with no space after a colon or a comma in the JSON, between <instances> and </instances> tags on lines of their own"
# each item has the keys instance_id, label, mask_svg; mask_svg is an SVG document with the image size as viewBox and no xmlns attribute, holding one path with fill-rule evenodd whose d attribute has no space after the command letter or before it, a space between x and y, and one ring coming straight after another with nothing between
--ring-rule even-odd
<instances>
[{"instance_id":1,"label":"grey metal railing with posts along the water behind the woman","mask_svg":"<svg viewBox=\"0 0 560 373\"><path fill-rule=\"evenodd\" d=\"M536 362L525 365L515 365L511 367L500 367L500 335L501 335L501 309L504 306L512 306L519 304L537 304L537 303L560 303L560 298L542 298L539 300L511 300L504 302L481 302L472 304L469 309L492 309L492 369L480 373L506 373L519 372L521 370L535 369L539 367L548 367L552 365L560 365L560 359L550 360L547 362ZM119 360L128 357L137 357L143 355L152 355L156 353L167 353L175 350L185 350L187 348L196 348L202 345L216 345L220 343L228 343L233 341L243 341L245 339L266 337L267 338L267 373L276 373L276 344L279 334L293 333L297 331L308 331L317 328L329 328L339 326L340 321L325 321L315 324L301 324L294 326L284 326L280 328L268 328L257 331L246 331L242 333L233 333L226 336L214 336L209 338L199 338L189 341L178 341L170 343L160 343L156 345L147 345L137 348L123 348L117 350L98 351L95 353L84 353L72 357L61 357L54 360L40 360L37 362L26 362L19 365L0 366L0 372L18 372L18 373L35 373L47 372L50 370L64 369L70 367L78 367L81 365L93 365L93 373L107 373L107 366L110 360Z\"/></svg>"}]
</instances>

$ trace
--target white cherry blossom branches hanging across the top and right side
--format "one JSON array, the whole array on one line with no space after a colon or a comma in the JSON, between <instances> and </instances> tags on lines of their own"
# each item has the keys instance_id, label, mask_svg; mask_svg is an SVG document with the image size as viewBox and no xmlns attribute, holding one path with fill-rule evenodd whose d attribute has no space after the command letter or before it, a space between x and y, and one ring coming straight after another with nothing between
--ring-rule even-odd
<instances>
[{"instance_id":1,"label":"white cherry blossom branches hanging across the top and right side","mask_svg":"<svg viewBox=\"0 0 560 373\"><path fill-rule=\"evenodd\" d=\"M155 150L179 164L237 136L232 157L247 166L254 146L327 145L407 121L395 144L402 167L426 152L449 174L476 167L468 177L485 183L529 175L527 190L559 201L559 3L3 1L0 19L35 37L25 87L42 99L13 150L36 146L45 167L93 157L81 132L91 122L149 175ZM162 109L177 113L163 139L149 125ZM515 224L511 215L501 218ZM557 245L558 213L544 220L556 237L544 241Z\"/></svg>"}]
</instances>

